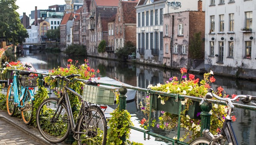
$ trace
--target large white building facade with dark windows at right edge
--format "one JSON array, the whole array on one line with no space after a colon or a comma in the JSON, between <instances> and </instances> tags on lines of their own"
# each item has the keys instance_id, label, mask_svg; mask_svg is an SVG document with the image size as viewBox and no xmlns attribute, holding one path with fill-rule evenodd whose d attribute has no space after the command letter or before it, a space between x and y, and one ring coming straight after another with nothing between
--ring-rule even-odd
<instances>
[{"instance_id":1,"label":"large white building facade with dark windows at right edge","mask_svg":"<svg viewBox=\"0 0 256 145\"><path fill-rule=\"evenodd\" d=\"M256 77L256 0L207 0L205 6L205 69Z\"/></svg>"}]
</instances>

